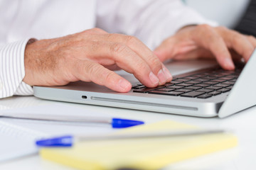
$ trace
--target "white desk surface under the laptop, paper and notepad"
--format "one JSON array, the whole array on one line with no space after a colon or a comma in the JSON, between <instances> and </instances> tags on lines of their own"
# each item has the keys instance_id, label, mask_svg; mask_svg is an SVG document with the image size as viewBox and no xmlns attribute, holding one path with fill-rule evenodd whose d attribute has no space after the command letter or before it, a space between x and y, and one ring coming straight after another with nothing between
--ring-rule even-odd
<instances>
[{"instance_id":1,"label":"white desk surface under the laptop, paper and notepad","mask_svg":"<svg viewBox=\"0 0 256 170\"><path fill-rule=\"evenodd\" d=\"M29 106L41 106L42 104L58 103L55 101L44 101L33 96L13 97L0 100L1 109L23 108ZM75 103L65 103L79 108L92 109L100 113L106 113L121 118L131 118L144 120L146 123L153 123L159 120L176 120L183 123L189 123L209 128L224 128L234 130L239 140L239 145L235 149L228 149L222 152L208 154L207 156L190 159L186 162L179 162L170 165L166 169L255 169L256 167L256 107L247 109L239 114L232 115L229 118L193 118L181 115L169 115L162 113L149 113L146 111L132 111L121 108L107 108L102 106L88 106ZM47 105L46 105L47 106ZM36 109L36 108L35 108ZM14 120L18 121L18 120ZM99 130L95 127L95 130ZM90 129L94 129L90 127ZM102 128L103 129L103 128ZM62 130L67 130L62 127ZM107 128L111 131L111 128ZM1 143L1 142L0 142ZM23 157L0 164L0 169L70 169L59 164L45 161L37 154L30 157Z\"/></svg>"}]
</instances>

